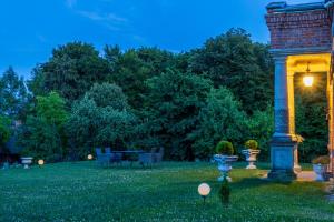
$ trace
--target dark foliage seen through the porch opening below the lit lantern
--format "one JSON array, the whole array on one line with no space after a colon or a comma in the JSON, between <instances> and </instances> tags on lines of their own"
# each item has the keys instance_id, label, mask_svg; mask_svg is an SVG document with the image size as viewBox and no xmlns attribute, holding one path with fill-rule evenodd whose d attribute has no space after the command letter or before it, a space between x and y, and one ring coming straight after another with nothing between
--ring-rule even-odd
<instances>
[{"instance_id":1,"label":"dark foliage seen through the porch opening below the lit lantern","mask_svg":"<svg viewBox=\"0 0 334 222\"><path fill-rule=\"evenodd\" d=\"M305 88L303 75L295 75L296 133L305 140L298 145L302 162L327 154L328 123L326 100L326 74L313 74L315 83Z\"/></svg>"}]
</instances>

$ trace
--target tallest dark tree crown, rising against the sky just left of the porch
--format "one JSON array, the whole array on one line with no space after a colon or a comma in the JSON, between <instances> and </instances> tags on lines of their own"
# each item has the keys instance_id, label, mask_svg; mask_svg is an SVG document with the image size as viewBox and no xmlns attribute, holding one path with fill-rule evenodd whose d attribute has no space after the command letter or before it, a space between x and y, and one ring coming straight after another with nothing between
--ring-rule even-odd
<instances>
[{"instance_id":1,"label":"tallest dark tree crown, rising against the sky just left of the porch","mask_svg":"<svg viewBox=\"0 0 334 222\"><path fill-rule=\"evenodd\" d=\"M273 62L267 47L253 43L242 29L207 40L194 50L189 69L228 88L242 101L247 113L265 110L273 100Z\"/></svg>"}]
</instances>

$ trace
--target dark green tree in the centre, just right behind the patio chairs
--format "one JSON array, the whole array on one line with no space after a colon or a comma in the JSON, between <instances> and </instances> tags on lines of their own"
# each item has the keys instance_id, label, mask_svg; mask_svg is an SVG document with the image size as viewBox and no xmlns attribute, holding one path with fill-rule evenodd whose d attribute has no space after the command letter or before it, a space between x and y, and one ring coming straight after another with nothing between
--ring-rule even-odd
<instances>
[{"instance_id":1,"label":"dark green tree in the centre, just right behind the patio chairs","mask_svg":"<svg viewBox=\"0 0 334 222\"><path fill-rule=\"evenodd\" d=\"M168 70L149 79L147 85L141 138L165 145L168 158L194 160L193 141L188 135L198 124L198 113L212 82L191 73Z\"/></svg>"}]
</instances>

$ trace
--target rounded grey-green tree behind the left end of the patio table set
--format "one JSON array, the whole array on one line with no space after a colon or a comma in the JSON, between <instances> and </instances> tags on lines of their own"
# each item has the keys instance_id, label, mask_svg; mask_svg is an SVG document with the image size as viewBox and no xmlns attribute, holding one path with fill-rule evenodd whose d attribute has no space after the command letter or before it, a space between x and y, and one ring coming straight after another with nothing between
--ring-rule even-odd
<instances>
[{"instance_id":1,"label":"rounded grey-green tree behind the left end of the patio table set","mask_svg":"<svg viewBox=\"0 0 334 222\"><path fill-rule=\"evenodd\" d=\"M71 155L85 158L96 147L125 149L136 121L119 87L95 84L73 104L67 122Z\"/></svg>"}]
</instances>

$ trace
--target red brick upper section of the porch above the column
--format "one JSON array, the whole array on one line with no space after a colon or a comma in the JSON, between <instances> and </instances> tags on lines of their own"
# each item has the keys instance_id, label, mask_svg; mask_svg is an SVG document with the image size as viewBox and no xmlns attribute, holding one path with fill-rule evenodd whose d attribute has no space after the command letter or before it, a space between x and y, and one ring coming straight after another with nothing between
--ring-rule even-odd
<instances>
[{"instance_id":1,"label":"red brick upper section of the porch above the column","mask_svg":"<svg viewBox=\"0 0 334 222\"><path fill-rule=\"evenodd\" d=\"M326 10L279 12L268 10L266 22L272 49L327 47L331 49L331 19Z\"/></svg>"}]
</instances>

